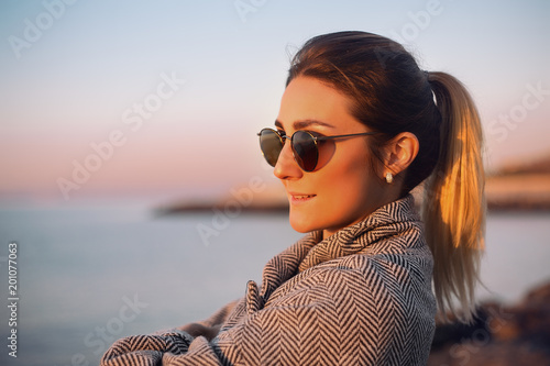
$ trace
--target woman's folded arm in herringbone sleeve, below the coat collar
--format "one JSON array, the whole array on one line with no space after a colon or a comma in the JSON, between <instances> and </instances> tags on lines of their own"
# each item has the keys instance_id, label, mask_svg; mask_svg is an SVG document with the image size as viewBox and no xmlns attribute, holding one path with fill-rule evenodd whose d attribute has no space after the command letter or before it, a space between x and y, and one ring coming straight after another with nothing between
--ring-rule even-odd
<instances>
[{"instance_id":1,"label":"woman's folded arm in herringbone sleeve, below the coat collar","mask_svg":"<svg viewBox=\"0 0 550 366\"><path fill-rule=\"evenodd\" d=\"M372 265L299 275L265 307L256 308L249 290L245 314L210 342L179 330L128 337L101 365L426 364L433 319L422 292L430 288L395 264ZM405 292L394 276L408 277Z\"/></svg>"}]
</instances>

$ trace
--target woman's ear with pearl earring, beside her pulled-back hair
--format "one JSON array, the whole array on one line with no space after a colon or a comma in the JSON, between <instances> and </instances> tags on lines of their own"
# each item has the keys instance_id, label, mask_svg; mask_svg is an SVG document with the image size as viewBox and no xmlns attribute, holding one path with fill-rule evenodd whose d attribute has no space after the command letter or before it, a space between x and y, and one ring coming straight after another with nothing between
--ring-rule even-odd
<instances>
[{"instance_id":1,"label":"woman's ear with pearl earring, beside her pulled-back hair","mask_svg":"<svg viewBox=\"0 0 550 366\"><path fill-rule=\"evenodd\" d=\"M410 132L402 132L385 146L386 164L384 177L387 173L396 176L405 170L416 158L419 148L418 138Z\"/></svg>"}]
</instances>

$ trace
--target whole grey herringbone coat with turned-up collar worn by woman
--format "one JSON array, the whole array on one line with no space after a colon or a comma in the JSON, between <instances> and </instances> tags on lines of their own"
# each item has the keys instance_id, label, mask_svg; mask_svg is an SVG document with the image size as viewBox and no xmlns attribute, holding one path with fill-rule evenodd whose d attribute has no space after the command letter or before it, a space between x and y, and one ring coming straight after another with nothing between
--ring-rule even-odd
<instances>
[{"instance_id":1,"label":"whole grey herringbone coat with turned-up collar worn by woman","mask_svg":"<svg viewBox=\"0 0 550 366\"><path fill-rule=\"evenodd\" d=\"M436 315L431 275L408 196L327 240L310 233L272 258L261 290L248 284L212 341L178 330L130 336L102 365L426 365Z\"/></svg>"}]
</instances>

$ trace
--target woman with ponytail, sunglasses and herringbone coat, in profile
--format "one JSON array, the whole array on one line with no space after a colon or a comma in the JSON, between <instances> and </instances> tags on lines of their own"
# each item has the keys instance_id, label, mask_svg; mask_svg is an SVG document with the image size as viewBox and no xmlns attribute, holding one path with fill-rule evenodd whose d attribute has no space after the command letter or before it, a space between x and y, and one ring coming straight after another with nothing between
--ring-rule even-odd
<instances>
[{"instance_id":1,"label":"woman with ponytail, sunglasses and herringbone coat, in profile","mask_svg":"<svg viewBox=\"0 0 550 366\"><path fill-rule=\"evenodd\" d=\"M121 340L102 364L425 365L437 307L471 318L481 141L475 107L450 75L420 70L378 35L314 37L293 60L275 129L260 133L290 224L308 234L237 303ZM410 195L420 184L424 224Z\"/></svg>"}]
</instances>

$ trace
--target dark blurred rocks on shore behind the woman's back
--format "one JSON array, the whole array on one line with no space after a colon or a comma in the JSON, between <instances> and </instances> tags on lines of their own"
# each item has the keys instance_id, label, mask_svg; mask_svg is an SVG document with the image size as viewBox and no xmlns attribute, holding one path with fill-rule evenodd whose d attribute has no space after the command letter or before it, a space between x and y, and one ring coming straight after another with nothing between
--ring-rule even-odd
<instances>
[{"instance_id":1,"label":"dark blurred rocks on shore behind the woman's back","mask_svg":"<svg viewBox=\"0 0 550 366\"><path fill-rule=\"evenodd\" d=\"M473 324L438 325L428 365L550 365L550 282L513 306L481 304Z\"/></svg>"}]
</instances>

